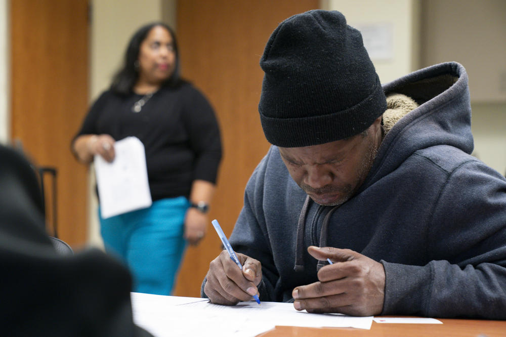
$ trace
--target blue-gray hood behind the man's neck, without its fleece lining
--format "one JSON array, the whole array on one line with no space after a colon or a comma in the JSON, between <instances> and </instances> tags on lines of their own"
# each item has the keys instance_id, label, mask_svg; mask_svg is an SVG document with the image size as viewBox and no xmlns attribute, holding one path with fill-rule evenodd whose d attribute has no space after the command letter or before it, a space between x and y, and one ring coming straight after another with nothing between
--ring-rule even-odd
<instances>
[{"instance_id":1,"label":"blue-gray hood behind the man's neck, without its fleece lining","mask_svg":"<svg viewBox=\"0 0 506 337\"><path fill-rule=\"evenodd\" d=\"M468 75L462 65L447 62L420 69L387 83L383 90L387 96L406 95L418 107L387 133L362 189L395 170L417 150L450 145L473 152Z\"/></svg>"}]
</instances>

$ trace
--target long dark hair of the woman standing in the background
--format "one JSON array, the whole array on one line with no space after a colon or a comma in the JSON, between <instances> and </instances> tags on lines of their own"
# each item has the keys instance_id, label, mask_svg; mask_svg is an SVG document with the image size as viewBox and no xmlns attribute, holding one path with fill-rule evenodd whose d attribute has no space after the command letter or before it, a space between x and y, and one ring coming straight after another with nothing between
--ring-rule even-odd
<instances>
[{"instance_id":1,"label":"long dark hair of the woman standing in the background","mask_svg":"<svg viewBox=\"0 0 506 337\"><path fill-rule=\"evenodd\" d=\"M161 83L162 87L176 87L185 82L180 77L179 51L176 34L171 27L163 22L153 22L139 28L130 39L128 47L126 47L123 65L112 78L110 90L116 94L129 95L139 79L139 71L136 69L135 63L139 59L139 51L141 44L153 27L161 26L165 28L171 35L174 45L174 53L176 55L176 64L172 75Z\"/></svg>"}]
</instances>

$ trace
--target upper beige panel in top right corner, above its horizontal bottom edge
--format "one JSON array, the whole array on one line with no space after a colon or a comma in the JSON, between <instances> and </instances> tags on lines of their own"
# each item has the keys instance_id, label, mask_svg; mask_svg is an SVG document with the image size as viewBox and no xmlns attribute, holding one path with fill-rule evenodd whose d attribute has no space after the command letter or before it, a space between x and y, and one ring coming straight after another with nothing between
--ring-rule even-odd
<instances>
[{"instance_id":1,"label":"upper beige panel in top right corner, above its horizontal bottom edge","mask_svg":"<svg viewBox=\"0 0 506 337\"><path fill-rule=\"evenodd\" d=\"M461 63L473 102L506 102L506 1L426 0L423 65Z\"/></svg>"}]
</instances>

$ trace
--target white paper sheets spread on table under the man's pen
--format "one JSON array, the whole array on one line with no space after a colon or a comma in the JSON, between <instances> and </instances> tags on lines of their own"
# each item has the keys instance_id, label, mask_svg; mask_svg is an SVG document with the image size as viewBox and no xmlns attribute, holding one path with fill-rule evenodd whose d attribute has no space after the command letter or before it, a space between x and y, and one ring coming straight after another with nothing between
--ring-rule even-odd
<instances>
[{"instance_id":1,"label":"white paper sheets spread on table under the man's pen","mask_svg":"<svg viewBox=\"0 0 506 337\"><path fill-rule=\"evenodd\" d=\"M221 306L200 298L132 293L134 321L157 337L256 336L276 325L370 329L372 316L310 314L291 303L241 302ZM197 321L198 320L198 321Z\"/></svg>"}]
</instances>

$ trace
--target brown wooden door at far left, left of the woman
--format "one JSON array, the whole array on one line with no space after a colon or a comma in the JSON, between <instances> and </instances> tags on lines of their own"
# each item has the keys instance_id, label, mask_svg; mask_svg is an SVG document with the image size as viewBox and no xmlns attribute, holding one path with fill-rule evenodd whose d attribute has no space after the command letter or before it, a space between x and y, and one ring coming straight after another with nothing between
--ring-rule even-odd
<instances>
[{"instance_id":1,"label":"brown wooden door at far left, left of the woman","mask_svg":"<svg viewBox=\"0 0 506 337\"><path fill-rule=\"evenodd\" d=\"M57 170L58 234L86 240L87 168L70 141L88 109L88 0L13 0L11 135L37 166ZM45 179L52 223L52 183Z\"/></svg>"}]
</instances>

